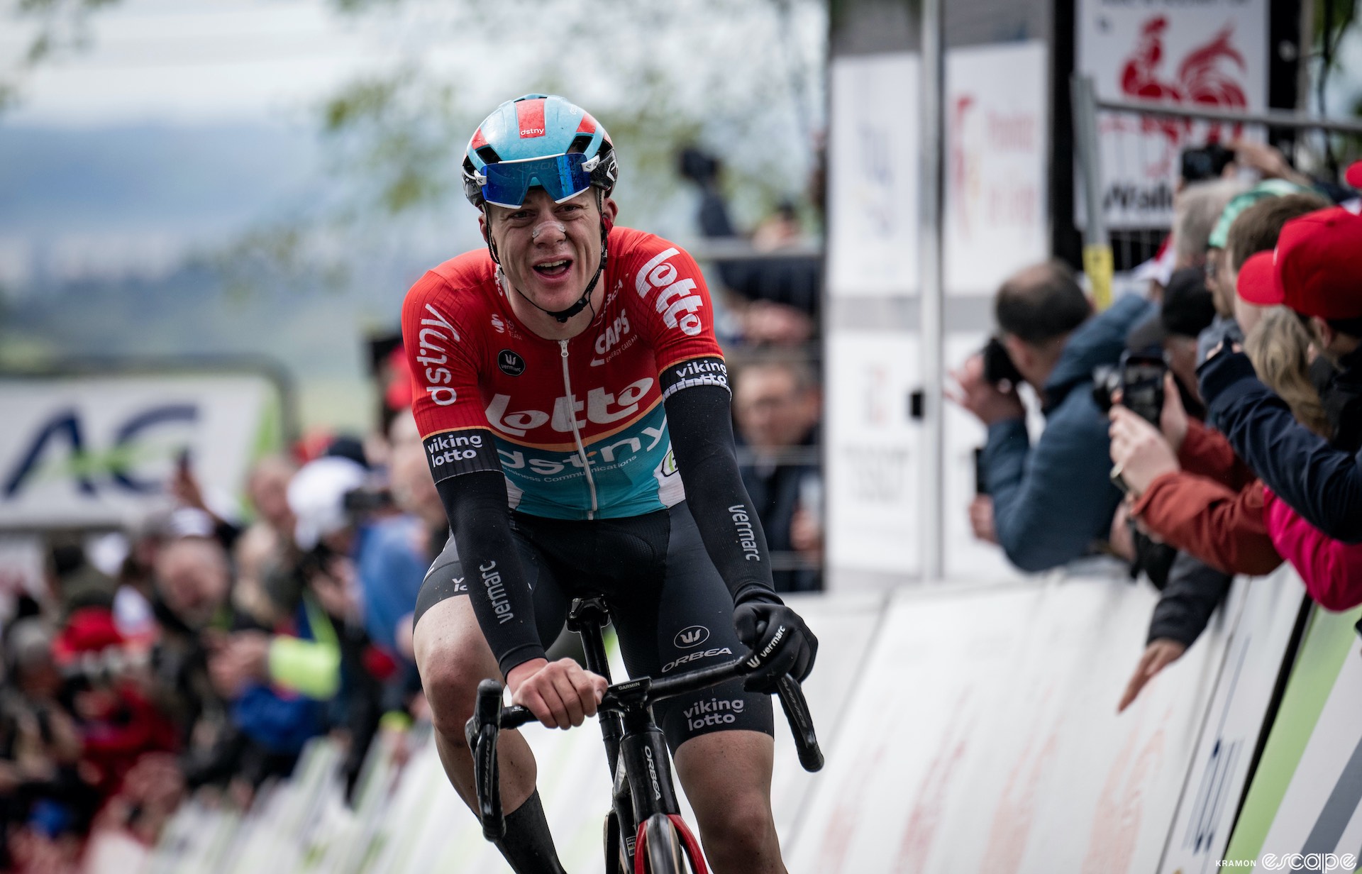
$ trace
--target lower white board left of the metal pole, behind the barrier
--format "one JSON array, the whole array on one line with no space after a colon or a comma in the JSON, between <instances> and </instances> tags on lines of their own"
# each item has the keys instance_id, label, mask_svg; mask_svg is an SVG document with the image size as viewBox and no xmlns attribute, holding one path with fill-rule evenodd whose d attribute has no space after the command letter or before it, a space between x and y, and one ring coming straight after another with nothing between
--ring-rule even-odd
<instances>
[{"instance_id":1,"label":"lower white board left of the metal pole, behind the barrier","mask_svg":"<svg viewBox=\"0 0 1362 874\"><path fill-rule=\"evenodd\" d=\"M828 568L918 569L918 432L908 399L918 342L843 331L827 343Z\"/></svg>"}]
</instances>

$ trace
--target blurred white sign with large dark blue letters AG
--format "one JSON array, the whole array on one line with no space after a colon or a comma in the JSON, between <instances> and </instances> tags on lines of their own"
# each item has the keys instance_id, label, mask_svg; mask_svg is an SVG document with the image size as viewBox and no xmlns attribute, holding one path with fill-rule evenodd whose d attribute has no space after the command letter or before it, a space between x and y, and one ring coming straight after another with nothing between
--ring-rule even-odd
<instances>
[{"instance_id":1,"label":"blurred white sign with large dark blue letters AG","mask_svg":"<svg viewBox=\"0 0 1362 874\"><path fill-rule=\"evenodd\" d=\"M260 376L0 380L0 528L123 524L185 451L204 494L234 496L275 395Z\"/></svg>"}]
</instances>

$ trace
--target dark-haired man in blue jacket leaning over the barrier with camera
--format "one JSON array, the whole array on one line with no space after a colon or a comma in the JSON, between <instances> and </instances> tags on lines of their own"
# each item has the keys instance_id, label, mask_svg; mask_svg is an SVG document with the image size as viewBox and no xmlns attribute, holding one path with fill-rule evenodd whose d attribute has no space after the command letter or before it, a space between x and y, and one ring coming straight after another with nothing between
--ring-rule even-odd
<instances>
[{"instance_id":1,"label":"dark-haired man in blue jacket leaning over the barrier with camera","mask_svg":"<svg viewBox=\"0 0 1362 874\"><path fill-rule=\"evenodd\" d=\"M1126 334L1156 310L1125 297L1094 316L1073 272L1049 261L1011 276L994 312L1008 355L1041 398L1045 430L1032 447L1016 389L983 378L982 354L952 374L951 396L989 429L982 474L998 545L1017 568L1046 570L1109 536L1121 493L1109 479L1092 369L1117 363Z\"/></svg>"}]
</instances>

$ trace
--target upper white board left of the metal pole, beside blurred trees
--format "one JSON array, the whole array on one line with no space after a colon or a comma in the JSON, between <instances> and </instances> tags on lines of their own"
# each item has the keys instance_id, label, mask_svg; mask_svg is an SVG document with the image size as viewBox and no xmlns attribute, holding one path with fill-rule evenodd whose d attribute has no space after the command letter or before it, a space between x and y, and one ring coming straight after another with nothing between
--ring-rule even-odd
<instances>
[{"instance_id":1,"label":"upper white board left of the metal pole, beside blurred trees","mask_svg":"<svg viewBox=\"0 0 1362 874\"><path fill-rule=\"evenodd\" d=\"M828 294L918 286L918 60L839 57L831 72Z\"/></svg>"}]
</instances>

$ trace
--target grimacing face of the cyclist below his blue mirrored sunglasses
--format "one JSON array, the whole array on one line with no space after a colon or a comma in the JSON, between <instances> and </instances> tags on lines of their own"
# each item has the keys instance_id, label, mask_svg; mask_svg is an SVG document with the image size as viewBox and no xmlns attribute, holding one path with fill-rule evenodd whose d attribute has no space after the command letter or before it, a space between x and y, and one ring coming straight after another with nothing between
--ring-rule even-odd
<instances>
[{"instance_id":1,"label":"grimacing face of the cyclist below his blue mirrored sunglasses","mask_svg":"<svg viewBox=\"0 0 1362 874\"><path fill-rule=\"evenodd\" d=\"M613 201L606 200L605 208L614 215ZM511 285L543 309L575 304L601 264L595 191L554 203L542 188L533 188L518 210L492 206L482 233L492 234Z\"/></svg>"}]
</instances>

